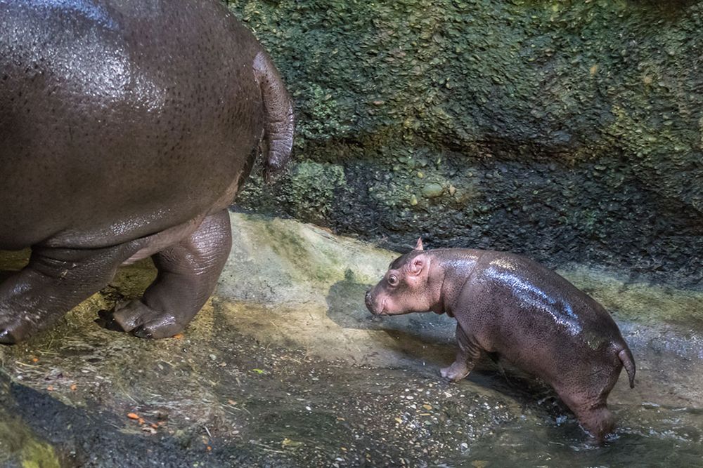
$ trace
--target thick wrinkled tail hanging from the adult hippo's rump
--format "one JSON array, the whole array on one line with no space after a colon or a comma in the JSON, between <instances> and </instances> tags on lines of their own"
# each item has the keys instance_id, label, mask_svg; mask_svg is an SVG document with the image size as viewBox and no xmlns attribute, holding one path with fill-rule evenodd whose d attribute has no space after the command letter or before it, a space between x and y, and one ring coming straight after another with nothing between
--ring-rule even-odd
<instances>
[{"instance_id":1,"label":"thick wrinkled tail hanging from the adult hippo's rump","mask_svg":"<svg viewBox=\"0 0 703 468\"><path fill-rule=\"evenodd\" d=\"M285 91L283 80L280 79L269 55L263 51L257 53L254 58L254 76L259 82L264 102L262 149L266 154L264 178L269 180L271 175L285 167L290 158L295 119L292 102Z\"/></svg>"}]
</instances>

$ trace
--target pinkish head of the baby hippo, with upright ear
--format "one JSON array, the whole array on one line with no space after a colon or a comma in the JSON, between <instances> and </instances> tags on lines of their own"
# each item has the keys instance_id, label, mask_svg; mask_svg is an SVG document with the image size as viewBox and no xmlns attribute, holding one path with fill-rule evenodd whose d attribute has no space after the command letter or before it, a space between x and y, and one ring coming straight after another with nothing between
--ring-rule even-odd
<instances>
[{"instance_id":1,"label":"pinkish head of the baby hippo, with upright ear","mask_svg":"<svg viewBox=\"0 0 703 468\"><path fill-rule=\"evenodd\" d=\"M366 307L374 315L429 312L435 304L430 287L430 255L418 239L415 250L396 258L383 279L366 293Z\"/></svg>"}]
</instances>

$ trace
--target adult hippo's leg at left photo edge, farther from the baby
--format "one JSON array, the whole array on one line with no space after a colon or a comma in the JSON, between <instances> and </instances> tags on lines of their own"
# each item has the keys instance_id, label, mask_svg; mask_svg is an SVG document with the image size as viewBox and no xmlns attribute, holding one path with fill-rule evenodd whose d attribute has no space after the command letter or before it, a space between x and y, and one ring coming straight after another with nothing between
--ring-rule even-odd
<instances>
[{"instance_id":1,"label":"adult hippo's leg at left photo edge, farther from the baby","mask_svg":"<svg viewBox=\"0 0 703 468\"><path fill-rule=\"evenodd\" d=\"M35 246L27 266L0 284L0 343L13 345L107 286L138 243L97 249Z\"/></svg>"}]
</instances>

